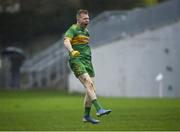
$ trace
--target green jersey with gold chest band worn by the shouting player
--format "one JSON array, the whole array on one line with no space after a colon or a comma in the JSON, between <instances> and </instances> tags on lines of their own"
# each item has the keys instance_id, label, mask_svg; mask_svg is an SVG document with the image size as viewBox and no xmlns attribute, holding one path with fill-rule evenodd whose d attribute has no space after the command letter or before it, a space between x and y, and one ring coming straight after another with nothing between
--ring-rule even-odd
<instances>
[{"instance_id":1,"label":"green jersey with gold chest band worn by the shouting player","mask_svg":"<svg viewBox=\"0 0 180 132\"><path fill-rule=\"evenodd\" d=\"M72 48L80 52L80 57L91 58L89 32L79 24L73 24L65 33L65 38L71 42Z\"/></svg>"}]
</instances>

